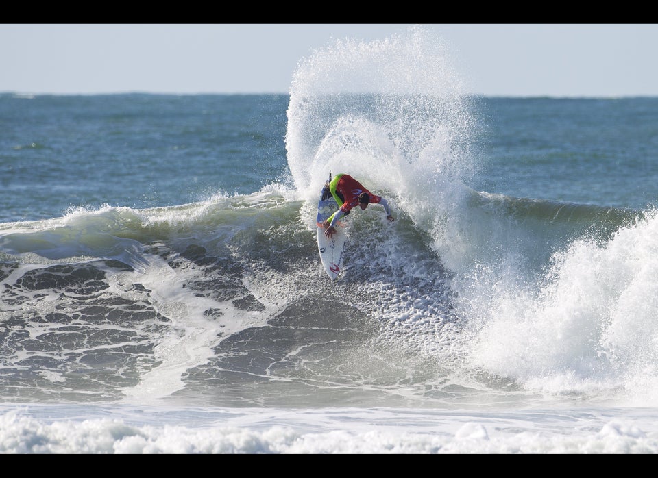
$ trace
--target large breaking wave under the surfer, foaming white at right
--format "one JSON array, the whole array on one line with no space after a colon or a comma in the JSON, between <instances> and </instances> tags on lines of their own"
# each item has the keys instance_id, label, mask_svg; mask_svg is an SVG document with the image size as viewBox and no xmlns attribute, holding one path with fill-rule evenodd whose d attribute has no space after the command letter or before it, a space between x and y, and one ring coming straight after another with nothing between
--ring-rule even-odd
<instances>
[{"instance_id":1,"label":"large breaking wave under the surfer, foaming white at right","mask_svg":"<svg viewBox=\"0 0 658 478\"><path fill-rule=\"evenodd\" d=\"M470 251L462 268L446 266L437 252L436 223L422 229L398 209L391 225L372 207L349 218L348 260L338 286L319 262L313 206L282 188L177 207L103 207L5 223L0 323L5 351L12 350L5 362L16 369L3 385L20 395L19 376L30 383L21 367L38 364L32 372L37 395L63 401L196 394L231 405L308 403L319 399L308 389L317 374L326 375L325 383L344 381L362 400L382 394L383 403L393 405L413 402L415 394L426 399L422 384L446 373L458 373L463 387L480 383L480 393L493 397L500 377L548 393L594 388L595 397L631 387L637 398L631 383L639 381L646 396L653 374L640 370L654 347L645 335L651 327L640 317L658 314L658 307L637 294L652 292L656 218L486 193L470 199L463 216L478 218L469 231L474 235L468 244L446 246ZM560 242L565 226L570 239ZM491 234L509 234L511 227L516 239L496 243L504 253L489 254ZM605 240L585 234L602 228ZM539 232L544 242L520 241ZM528 251L534 257L524 257ZM629 320L631 329L624 325ZM26 346L19 330L34 328L39 333ZM636 347L640 338L644 353ZM337 344L339 352L329 353ZM299 347L304 353L291 356ZM270 349L271 362L241 358L263 349ZM531 350L528 366L523 357ZM326 354L332 360L299 372L297 360ZM363 370L359 357L366 356L371 365ZM80 380L77 368L100 374L109 363L119 386L61 387ZM409 388L416 391L399 397L387 384L409 367ZM244 376L228 379L235 374ZM296 383L297 399L259 386L281 379ZM208 392L208 381L223 384L222 397ZM364 390L364 381L379 383L376 392ZM247 383L251 392L232 397L227 383ZM448 399L441 390L437 385L430 396Z\"/></svg>"}]
</instances>

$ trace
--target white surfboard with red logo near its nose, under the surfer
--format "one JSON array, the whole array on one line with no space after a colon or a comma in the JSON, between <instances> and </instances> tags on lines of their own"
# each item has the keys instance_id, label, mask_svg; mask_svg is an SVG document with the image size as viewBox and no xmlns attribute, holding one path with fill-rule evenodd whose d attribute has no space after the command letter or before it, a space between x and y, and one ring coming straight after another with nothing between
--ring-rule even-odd
<instances>
[{"instance_id":1,"label":"white surfboard with red logo near its nose, under the surfer","mask_svg":"<svg viewBox=\"0 0 658 478\"><path fill-rule=\"evenodd\" d=\"M331 175L329 175L331 179ZM331 239L326 238L324 235L324 226L322 223L334 214L338 209L338 203L331 195L329 190L329 181L326 181L320 199L317 202L317 218L315 223L317 225L317 250L320 253L320 261L324 270L330 279L338 279L339 274L343 270L343 261L345 260L345 225L340 221L334 226L336 234L332 234Z\"/></svg>"}]
</instances>

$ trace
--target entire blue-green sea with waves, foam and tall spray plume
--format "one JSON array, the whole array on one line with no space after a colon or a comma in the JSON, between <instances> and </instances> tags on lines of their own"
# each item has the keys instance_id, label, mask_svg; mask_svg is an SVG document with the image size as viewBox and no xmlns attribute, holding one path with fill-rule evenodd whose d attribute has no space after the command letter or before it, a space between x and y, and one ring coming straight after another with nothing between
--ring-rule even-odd
<instances>
[{"instance_id":1,"label":"entire blue-green sea with waves, foam and tall spray plume","mask_svg":"<svg viewBox=\"0 0 658 478\"><path fill-rule=\"evenodd\" d=\"M422 30L286 95L0 94L0 453L658 452L658 98ZM319 262L329 173L386 197Z\"/></svg>"}]
</instances>

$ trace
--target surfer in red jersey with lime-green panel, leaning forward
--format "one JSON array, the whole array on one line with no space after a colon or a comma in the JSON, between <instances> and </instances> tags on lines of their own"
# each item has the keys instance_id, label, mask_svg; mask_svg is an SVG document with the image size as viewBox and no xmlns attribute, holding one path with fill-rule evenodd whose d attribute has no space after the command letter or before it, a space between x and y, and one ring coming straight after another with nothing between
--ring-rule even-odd
<instances>
[{"instance_id":1,"label":"surfer in red jersey with lime-green panel, leaning forward","mask_svg":"<svg viewBox=\"0 0 658 478\"><path fill-rule=\"evenodd\" d=\"M395 221L391 214L389 203L381 196L372 194L369 190L363 187L363 184L356 181L352 176L347 174L337 174L334 179L329 183L329 190L332 196L336 199L339 205L339 210L334 212L329 218L324 221L324 235L331 238L332 234L336 232L334 224L345 214L350 214L352 207L358 205L361 210L365 211L368 204L381 204L384 206L386 218L389 221Z\"/></svg>"}]
</instances>

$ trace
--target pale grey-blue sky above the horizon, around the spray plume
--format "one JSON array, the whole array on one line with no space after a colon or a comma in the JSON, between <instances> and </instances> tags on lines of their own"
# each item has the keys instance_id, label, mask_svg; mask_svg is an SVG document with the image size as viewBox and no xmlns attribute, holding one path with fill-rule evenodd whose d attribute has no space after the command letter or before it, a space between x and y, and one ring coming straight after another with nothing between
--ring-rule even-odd
<instances>
[{"instance_id":1,"label":"pale grey-blue sky above the horizon, around the spray plume","mask_svg":"<svg viewBox=\"0 0 658 478\"><path fill-rule=\"evenodd\" d=\"M288 93L336 40L411 24L0 24L0 92ZM658 96L658 24L427 24L487 96Z\"/></svg>"}]
</instances>

